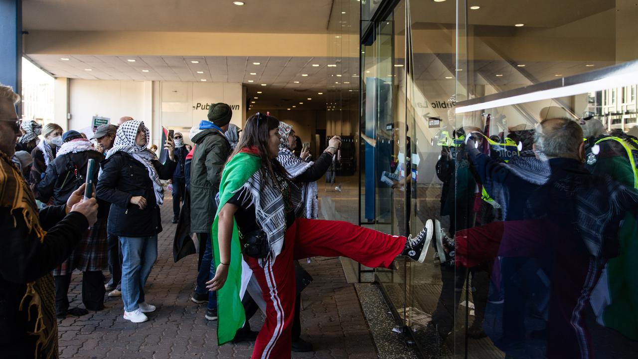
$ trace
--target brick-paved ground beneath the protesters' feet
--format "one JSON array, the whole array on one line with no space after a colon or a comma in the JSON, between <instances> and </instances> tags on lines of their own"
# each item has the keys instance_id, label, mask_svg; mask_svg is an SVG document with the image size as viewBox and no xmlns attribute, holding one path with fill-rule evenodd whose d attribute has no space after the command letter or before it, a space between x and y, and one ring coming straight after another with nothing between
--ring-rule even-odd
<instances>
[{"instance_id":1,"label":"brick-paved ground beneath the protesters' feet","mask_svg":"<svg viewBox=\"0 0 638 359\"><path fill-rule=\"evenodd\" d=\"M251 344L216 345L216 321L204 319L205 305L189 302L197 274L197 257L173 263L170 224L172 200L162 210L158 261L147 283L147 301L158 307L149 321L133 324L122 318L121 298L107 298L105 309L59 321L61 358L249 358ZM377 358L352 284L347 284L339 259L318 258L303 263L315 281L302 294L302 337L315 344L315 353L293 358ZM105 273L108 275L108 273ZM81 275L73 275L71 307L83 307ZM262 326L260 312L251 320Z\"/></svg>"}]
</instances>

